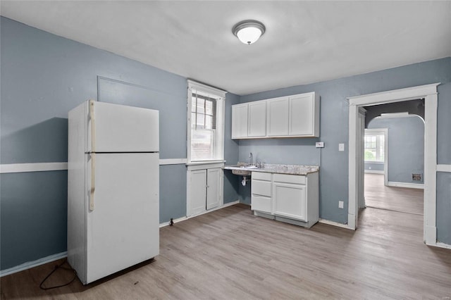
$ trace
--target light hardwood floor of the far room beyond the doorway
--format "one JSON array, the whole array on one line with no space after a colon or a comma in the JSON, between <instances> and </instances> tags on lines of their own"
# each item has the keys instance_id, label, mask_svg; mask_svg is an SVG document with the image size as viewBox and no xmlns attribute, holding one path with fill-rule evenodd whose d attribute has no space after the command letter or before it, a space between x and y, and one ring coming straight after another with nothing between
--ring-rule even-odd
<instances>
[{"instance_id":1,"label":"light hardwood floor of the far room beyond the doorway","mask_svg":"<svg viewBox=\"0 0 451 300\"><path fill-rule=\"evenodd\" d=\"M423 195L423 189L385 187L383 174L365 174L366 206L423 215Z\"/></svg>"}]
</instances>

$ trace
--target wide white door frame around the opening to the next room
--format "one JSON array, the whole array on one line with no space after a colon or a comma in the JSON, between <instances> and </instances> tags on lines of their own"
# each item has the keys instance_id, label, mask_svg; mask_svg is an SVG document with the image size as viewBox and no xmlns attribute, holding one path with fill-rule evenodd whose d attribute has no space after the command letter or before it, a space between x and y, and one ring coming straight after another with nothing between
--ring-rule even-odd
<instances>
[{"instance_id":1,"label":"wide white door frame around the opening to the next room","mask_svg":"<svg viewBox=\"0 0 451 300\"><path fill-rule=\"evenodd\" d=\"M387 92L352 96L347 99L349 107L349 203L347 226L355 230L359 213L357 195L359 191L357 176L357 132L358 113L361 106L373 106L413 99L425 99L424 125L424 242L437 244L437 228L435 226L436 206L436 170L437 170L437 86L421 85Z\"/></svg>"}]
</instances>

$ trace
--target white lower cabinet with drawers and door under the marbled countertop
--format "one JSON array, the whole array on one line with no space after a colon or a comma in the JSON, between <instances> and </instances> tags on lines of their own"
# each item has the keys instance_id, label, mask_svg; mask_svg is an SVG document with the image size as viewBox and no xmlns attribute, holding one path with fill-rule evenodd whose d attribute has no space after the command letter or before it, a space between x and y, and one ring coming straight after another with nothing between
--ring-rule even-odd
<instances>
[{"instance_id":1,"label":"white lower cabinet with drawers and door under the marbled countertop","mask_svg":"<svg viewBox=\"0 0 451 300\"><path fill-rule=\"evenodd\" d=\"M319 220L319 173L252 173L254 215L311 227Z\"/></svg>"}]
</instances>

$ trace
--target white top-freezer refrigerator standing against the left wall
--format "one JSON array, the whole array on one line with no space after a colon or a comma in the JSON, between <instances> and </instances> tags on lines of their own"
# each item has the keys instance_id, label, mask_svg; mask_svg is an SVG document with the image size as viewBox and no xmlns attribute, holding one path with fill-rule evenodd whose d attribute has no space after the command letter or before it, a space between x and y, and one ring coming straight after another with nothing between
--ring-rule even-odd
<instances>
[{"instance_id":1,"label":"white top-freezer refrigerator standing against the left wall","mask_svg":"<svg viewBox=\"0 0 451 300\"><path fill-rule=\"evenodd\" d=\"M159 254L159 111L86 101L68 118L68 262L83 285Z\"/></svg>"}]
</instances>

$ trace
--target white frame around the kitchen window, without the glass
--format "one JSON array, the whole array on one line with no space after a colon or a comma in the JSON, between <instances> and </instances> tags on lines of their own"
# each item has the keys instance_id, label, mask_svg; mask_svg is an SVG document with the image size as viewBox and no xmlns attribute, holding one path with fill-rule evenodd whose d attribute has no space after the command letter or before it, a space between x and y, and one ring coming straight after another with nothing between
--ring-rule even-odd
<instances>
[{"instance_id":1,"label":"white frame around the kitchen window, without the glass","mask_svg":"<svg viewBox=\"0 0 451 300\"><path fill-rule=\"evenodd\" d=\"M225 106L226 91L209 87L193 80L187 80L187 164L206 163L206 162L223 162L224 161L224 123L225 123ZM191 107L192 107L192 91L196 90L203 94L208 94L216 100L216 144L214 145L214 158L210 160L193 161L191 155Z\"/></svg>"}]
</instances>

